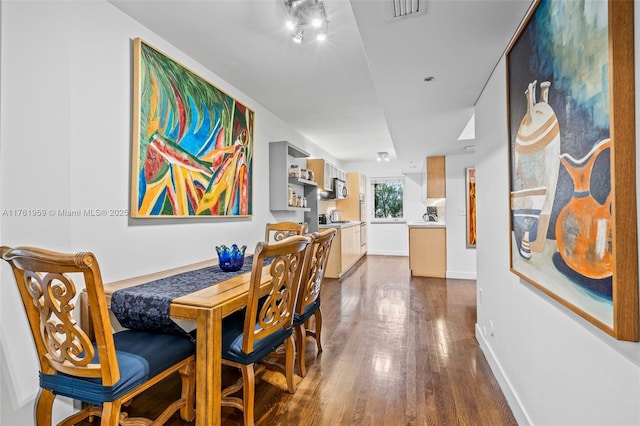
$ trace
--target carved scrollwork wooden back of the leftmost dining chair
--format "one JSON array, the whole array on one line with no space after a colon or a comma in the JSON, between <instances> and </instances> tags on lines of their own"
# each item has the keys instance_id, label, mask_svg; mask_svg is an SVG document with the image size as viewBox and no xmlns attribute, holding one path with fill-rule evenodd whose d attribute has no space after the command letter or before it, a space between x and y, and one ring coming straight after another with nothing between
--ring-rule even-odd
<instances>
[{"instance_id":1,"label":"carved scrollwork wooden back of the leftmost dining chair","mask_svg":"<svg viewBox=\"0 0 640 426\"><path fill-rule=\"evenodd\" d=\"M18 284L33 335L40 370L99 377L105 386L120 378L98 261L92 253L61 254L33 247L0 248ZM96 346L73 318L81 275L91 306ZM92 363L95 350L100 363Z\"/></svg>"}]
</instances>

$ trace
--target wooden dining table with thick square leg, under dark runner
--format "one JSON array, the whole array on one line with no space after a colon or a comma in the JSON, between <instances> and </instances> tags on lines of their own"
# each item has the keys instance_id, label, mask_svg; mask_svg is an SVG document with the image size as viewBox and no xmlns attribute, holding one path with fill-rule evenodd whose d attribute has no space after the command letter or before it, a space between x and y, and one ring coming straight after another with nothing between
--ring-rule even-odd
<instances>
[{"instance_id":1,"label":"wooden dining table with thick square leg, under dark runner","mask_svg":"<svg viewBox=\"0 0 640 426\"><path fill-rule=\"evenodd\" d=\"M107 303L111 295L120 289L150 283L172 275L210 267L217 259L206 260L152 274L114 281L104 284ZM196 331L196 425L219 425L221 423L220 401L222 390L222 318L247 305L251 272L233 276L210 286L194 291L171 301L170 317L195 324ZM261 295L266 293L271 280L269 267L262 274ZM80 296L81 324L91 330L86 292Z\"/></svg>"}]
</instances>

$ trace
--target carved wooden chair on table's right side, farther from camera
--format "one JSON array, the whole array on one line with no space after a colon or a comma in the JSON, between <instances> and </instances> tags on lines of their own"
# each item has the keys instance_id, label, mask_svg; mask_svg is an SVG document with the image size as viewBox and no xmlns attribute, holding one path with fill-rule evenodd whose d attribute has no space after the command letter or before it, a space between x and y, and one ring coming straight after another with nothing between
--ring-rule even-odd
<instances>
[{"instance_id":1,"label":"carved wooden chair on table's right side, farther from camera","mask_svg":"<svg viewBox=\"0 0 640 426\"><path fill-rule=\"evenodd\" d=\"M320 288L324 280L324 270L329 259L329 250L337 229L329 228L311 234L311 244L307 248L308 256L300 280L296 301L293 326L296 340L296 360L298 372L302 377L307 374L305 360L307 337L313 337L322 352L320 334L322 332L322 310L320 309ZM314 329L310 329L311 317L314 317Z\"/></svg>"}]
</instances>

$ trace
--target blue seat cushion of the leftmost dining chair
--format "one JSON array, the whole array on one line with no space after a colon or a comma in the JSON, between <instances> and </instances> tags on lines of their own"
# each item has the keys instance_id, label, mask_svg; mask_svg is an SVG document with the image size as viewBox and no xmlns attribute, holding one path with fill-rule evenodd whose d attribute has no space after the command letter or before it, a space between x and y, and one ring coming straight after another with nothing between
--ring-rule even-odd
<instances>
[{"instance_id":1,"label":"blue seat cushion of the leftmost dining chair","mask_svg":"<svg viewBox=\"0 0 640 426\"><path fill-rule=\"evenodd\" d=\"M101 378L40 373L40 387L57 395L101 405L120 398L167 368L195 354L189 336L126 330L113 335L120 380L103 386ZM95 345L94 345L95 346ZM98 352L93 362L98 362Z\"/></svg>"}]
</instances>

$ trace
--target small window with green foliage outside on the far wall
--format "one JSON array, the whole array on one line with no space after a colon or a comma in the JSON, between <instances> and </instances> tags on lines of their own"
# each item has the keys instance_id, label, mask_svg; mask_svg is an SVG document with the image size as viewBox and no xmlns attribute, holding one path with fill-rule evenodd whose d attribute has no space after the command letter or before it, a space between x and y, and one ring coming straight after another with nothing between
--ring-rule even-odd
<instances>
[{"instance_id":1,"label":"small window with green foliage outside on the far wall","mask_svg":"<svg viewBox=\"0 0 640 426\"><path fill-rule=\"evenodd\" d=\"M404 217L404 177L371 178L373 222L397 222Z\"/></svg>"}]
</instances>

